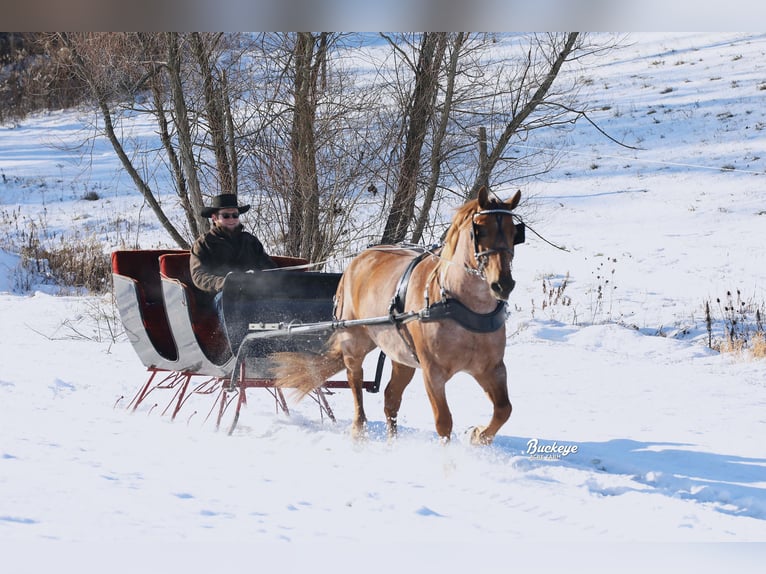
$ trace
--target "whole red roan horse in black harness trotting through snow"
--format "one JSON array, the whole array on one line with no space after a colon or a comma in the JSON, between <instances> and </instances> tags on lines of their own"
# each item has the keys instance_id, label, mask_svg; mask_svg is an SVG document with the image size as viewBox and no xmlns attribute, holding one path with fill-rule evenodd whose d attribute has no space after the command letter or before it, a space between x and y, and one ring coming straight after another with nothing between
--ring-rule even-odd
<instances>
[{"instance_id":1,"label":"whole red roan horse in black harness trotting through snow","mask_svg":"<svg viewBox=\"0 0 766 574\"><path fill-rule=\"evenodd\" d=\"M321 354L275 353L275 386L299 398L345 367L354 399L352 435L363 438L367 417L362 400L365 356L379 347L391 359L384 391L389 439L397 433L402 393L421 369L443 442L452 435L445 385L458 372L473 376L492 402L492 418L472 427L473 444L492 443L511 416L505 355L507 299L515 286L514 246L523 242L523 223L513 209L521 192L490 200L486 188L456 210L438 251L395 245L367 248L349 263L335 294L338 324ZM359 319L388 316L364 324ZM362 324L359 324L362 323Z\"/></svg>"}]
</instances>

